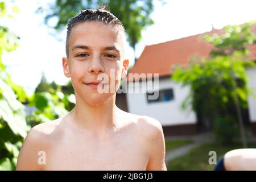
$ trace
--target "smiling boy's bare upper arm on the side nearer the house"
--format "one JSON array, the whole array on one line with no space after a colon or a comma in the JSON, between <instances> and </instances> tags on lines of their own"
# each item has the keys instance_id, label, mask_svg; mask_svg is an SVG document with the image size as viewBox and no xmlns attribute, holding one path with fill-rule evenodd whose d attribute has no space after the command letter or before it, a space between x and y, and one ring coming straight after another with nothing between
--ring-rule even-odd
<instances>
[{"instance_id":1,"label":"smiling boy's bare upper arm on the side nearer the house","mask_svg":"<svg viewBox=\"0 0 256 182\"><path fill-rule=\"evenodd\" d=\"M147 170L166 171L165 159L165 142L162 125L154 118L147 117L150 123L148 127L148 143L150 158L147 164Z\"/></svg>"}]
</instances>

